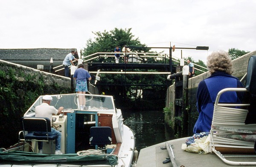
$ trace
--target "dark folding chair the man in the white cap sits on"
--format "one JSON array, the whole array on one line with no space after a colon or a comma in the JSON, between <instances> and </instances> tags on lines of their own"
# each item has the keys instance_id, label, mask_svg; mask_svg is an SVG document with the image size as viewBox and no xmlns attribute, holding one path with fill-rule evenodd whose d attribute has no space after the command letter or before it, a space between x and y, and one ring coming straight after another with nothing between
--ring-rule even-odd
<instances>
[{"instance_id":1,"label":"dark folding chair the man in the white cap sits on","mask_svg":"<svg viewBox=\"0 0 256 167\"><path fill-rule=\"evenodd\" d=\"M48 135L51 132L51 121L47 117L23 117L22 118L23 131L19 133L20 141L25 142L51 142L52 154L52 140L57 138L57 135ZM26 132L27 131L27 132ZM41 132L37 134L36 132ZM24 138L20 137L23 133ZM19 146L18 146L19 147Z\"/></svg>"}]
</instances>

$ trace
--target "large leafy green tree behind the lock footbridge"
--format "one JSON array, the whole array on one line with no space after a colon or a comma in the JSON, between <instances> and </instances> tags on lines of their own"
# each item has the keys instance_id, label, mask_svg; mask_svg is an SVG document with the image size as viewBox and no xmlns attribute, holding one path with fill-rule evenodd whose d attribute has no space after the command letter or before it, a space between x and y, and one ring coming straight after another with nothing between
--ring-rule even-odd
<instances>
[{"instance_id":1,"label":"large leafy green tree behind the lock footbridge","mask_svg":"<svg viewBox=\"0 0 256 167\"><path fill-rule=\"evenodd\" d=\"M132 50L132 52L145 53L149 52L145 44L142 44L139 38L136 38L131 33L131 28L118 29L114 28L111 31L93 32L96 36L93 40L87 40L87 44L83 50L82 55L88 56L97 52L113 52L116 46L122 48L124 45ZM155 55L155 53L152 53ZM89 59L89 57L88 57ZM145 63L161 63L163 60L158 60L154 57L147 57L144 59ZM96 60L93 60L94 62ZM92 61L92 62L93 62ZM113 57L104 57L100 62L113 62ZM114 71L113 69L104 69L104 71ZM120 71L120 69L116 70ZM122 71L148 71L146 69L122 69ZM149 75L149 74L101 74L101 80L98 82L100 91L113 95L116 102L122 102L122 105L129 105L131 101L140 101L141 91L146 87L138 86L140 84L160 85L166 82L165 75ZM126 86L124 86L126 85ZM166 88L154 88L157 92L166 92ZM160 94L160 93L158 93ZM131 106L128 106L131 107Z\"/></svg>"}]
</instances>

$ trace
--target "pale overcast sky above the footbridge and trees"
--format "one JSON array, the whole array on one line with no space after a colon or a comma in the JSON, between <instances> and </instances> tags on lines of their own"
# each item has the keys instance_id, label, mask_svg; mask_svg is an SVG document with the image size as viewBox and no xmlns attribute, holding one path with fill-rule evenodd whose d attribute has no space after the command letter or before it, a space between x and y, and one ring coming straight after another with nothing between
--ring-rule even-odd
<instances>
[{"instance_id":1,"label":"pale overcast sky above the footbridge and trees","mask_svg":"<svg viewBox=\"0 0 256 167\"><path fill-rule=\"evenodd\" d=\"M80 51L92 32L132 28L148 47L209 46L172 52L206 62L212 51L256 51L255 9L256 0L1 0L0 48Z\"/></svg>"}]
</instances>

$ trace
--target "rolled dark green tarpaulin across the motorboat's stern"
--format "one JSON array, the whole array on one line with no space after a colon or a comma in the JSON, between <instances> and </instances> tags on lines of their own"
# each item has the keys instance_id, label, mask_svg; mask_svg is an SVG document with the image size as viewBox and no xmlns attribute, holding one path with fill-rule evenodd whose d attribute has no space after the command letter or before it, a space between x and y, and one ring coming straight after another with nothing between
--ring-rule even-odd
<instances>
[{"instance_id":1,"label":"rolled dark green tarpaulin across the motorboat's stern","mask_svg":"<svg viewBox=\"0 0 256 167\"><path fill-rule=\"evenodd\" d=\"M48 155L48 154L38 154L29 153L23 151L13 151L13 152L2 152L0 151L0 160L4 161L15 161L15 162L31 162L36 164L37 162L69 162L68 164L81 162L82 164L86 161L95 161L96 164L100 162L108 161L110 165L118 164L118 158L116 156L105 156L102 155L87 155L78 156L77 154L62 154L62 155ZM100 162L99 162L100 161ZM81 164L80 163L80 164ZM64 164L64 163L61 163Z\"/></svg>"}]
</instances>

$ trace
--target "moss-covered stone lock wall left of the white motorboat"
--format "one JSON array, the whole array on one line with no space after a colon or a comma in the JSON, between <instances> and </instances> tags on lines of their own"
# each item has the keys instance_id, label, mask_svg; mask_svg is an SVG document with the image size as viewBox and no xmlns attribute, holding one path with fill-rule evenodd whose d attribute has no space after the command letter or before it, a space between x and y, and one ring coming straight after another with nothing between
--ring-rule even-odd
<instances>
[{"instance_id":1,"label":"moss-covered stone lock wall left of the white motorboat","mask_svg":"<svg viewBox=\"0 0 256 167\"><path fill-rule=\"evenodd\" d=\"M61 85L59 80L58 76L0 62L0 147L18 141L22 129L20 118L38 96L70 93L70 84ZM70 83L70 80L62 82Z\"/></svg>"}]
</instances>

